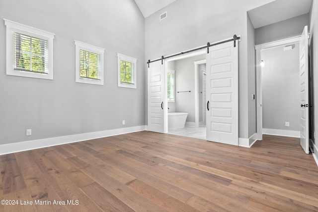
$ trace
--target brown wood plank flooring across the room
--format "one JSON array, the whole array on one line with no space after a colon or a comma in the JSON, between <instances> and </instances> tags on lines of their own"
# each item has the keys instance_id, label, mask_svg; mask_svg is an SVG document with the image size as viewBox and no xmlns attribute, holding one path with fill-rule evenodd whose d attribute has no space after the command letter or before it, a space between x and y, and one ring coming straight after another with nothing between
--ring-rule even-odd
<instances>
[{"instance_id":1,"label":"brown wood plank flooring across the room","mask_svg":"<svg viewBox=\"0 0 318 212\"><path fill-rule=\"evenodd\" d=\"M299 143L142 131L2 155L0 200L15 205L0 211L318 212L318 166Z\"/></svg>"}]
</instances>

